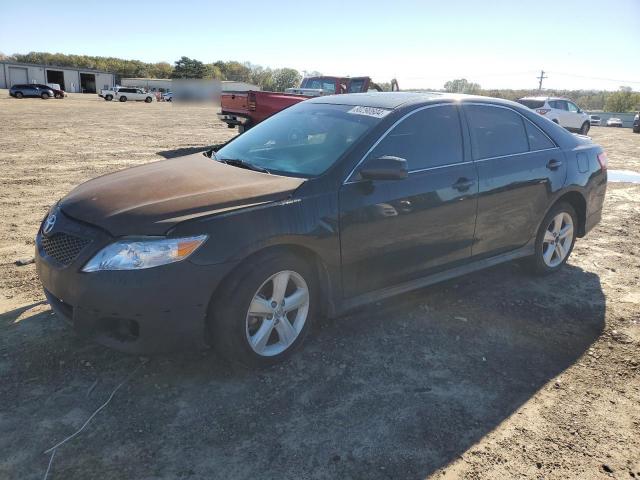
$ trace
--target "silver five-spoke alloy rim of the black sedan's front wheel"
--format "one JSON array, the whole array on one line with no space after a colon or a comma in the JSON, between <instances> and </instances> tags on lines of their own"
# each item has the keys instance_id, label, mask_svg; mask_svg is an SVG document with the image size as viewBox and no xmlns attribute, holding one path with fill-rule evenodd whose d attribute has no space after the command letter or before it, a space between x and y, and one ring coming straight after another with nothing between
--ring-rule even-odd
<instances>
[{"instance_id":1,"label":"silver five-spoke alloy rim of the black sedan's front wheel","mask_svg":"<svg viewBox=\"0 0 640 480\"><path fill-rule=\"evenodd\" d=\"M269 277L254 294L246 317L246 336L252 350L271 357L287 350L298 338L309 314L309 287L292 270Z\"/></svg>"}]
</instances>

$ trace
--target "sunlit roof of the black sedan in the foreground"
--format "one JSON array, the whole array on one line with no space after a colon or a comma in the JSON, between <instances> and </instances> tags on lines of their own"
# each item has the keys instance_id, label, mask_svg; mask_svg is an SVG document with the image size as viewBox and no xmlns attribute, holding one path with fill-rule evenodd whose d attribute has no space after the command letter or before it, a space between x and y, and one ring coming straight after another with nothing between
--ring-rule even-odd
<instances>
[{"instance_id":1,"label":"sunlit roof of the black sedan in the foreground","mask_svg":"<svg viewBox=\"0 0 640 480\"><path fill-rule=\"evenodd\" d=\"M522 108L522 105L501 98L445 92L367 92L326 95L305 100L304 103L353 105L373 108L396 109L425 103L480 102Z\"/></svg>"}]
</instances>

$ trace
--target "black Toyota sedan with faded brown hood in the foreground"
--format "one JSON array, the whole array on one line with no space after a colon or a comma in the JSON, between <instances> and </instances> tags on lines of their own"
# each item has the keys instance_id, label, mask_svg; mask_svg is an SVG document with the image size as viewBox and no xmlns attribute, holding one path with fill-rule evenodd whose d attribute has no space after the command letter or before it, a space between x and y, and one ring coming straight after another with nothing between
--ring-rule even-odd
<instances>
[{"instance_id":1,"label":"black Toyota sedan with faded brown hood in the foreground","mask_svg":"<svg viewBox=\"0 0 640 480\"><path fill-rule=\"evenodd\" d=\"M210 155L90 180L50 209L36 268L60 317L131 353L206 341L266 365L323 315L515 259L559 270L607 186L590 139L452 94L310 99Z\"/></svg>"}]
</instances>

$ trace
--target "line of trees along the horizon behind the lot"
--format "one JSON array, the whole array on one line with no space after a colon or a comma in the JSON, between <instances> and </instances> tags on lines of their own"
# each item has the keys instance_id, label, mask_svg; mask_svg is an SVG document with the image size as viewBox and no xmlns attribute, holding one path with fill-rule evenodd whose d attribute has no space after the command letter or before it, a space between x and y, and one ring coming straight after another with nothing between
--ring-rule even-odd
<instances>
[{"instance_id":1,"label":"line of trees along the horizon behind the lot","mask_svg":"<svg viewBox=\"0 0 640 480\"><path fill-rule=\"evenodd\" d=\"M148 63L140 60L125 60L116 57L98 57L90 55L67 55L63 53L29 52L26 54L3 55L0 60L12 60L23 63L55 65L59 67L91 68L112 72L120 78L203 78L216 80L234 80L258 85L263 90L281 92L297 87L302 74L293 68L275 68L253 65L249 62L217 61L204 63L199 60L181 57L171 65L168 62ZM309 76L320 72L308 72ZM389 83L379 83L383 90L390 90ZM402 85L401 85L402 87ZM424 89L426 90L426 89ZM434 89L431 89L434 90ZM464 78L448 81L443 88L446 92L469 93L490 97L517 100L530 95L549 95L572 99L583 110L605 110L609 112L632 112L640 109L640 93L630 87L620 87L617 92L602 90L547 90L537 89L483 89L479 84Z\"/></svg>"}]
</instances>

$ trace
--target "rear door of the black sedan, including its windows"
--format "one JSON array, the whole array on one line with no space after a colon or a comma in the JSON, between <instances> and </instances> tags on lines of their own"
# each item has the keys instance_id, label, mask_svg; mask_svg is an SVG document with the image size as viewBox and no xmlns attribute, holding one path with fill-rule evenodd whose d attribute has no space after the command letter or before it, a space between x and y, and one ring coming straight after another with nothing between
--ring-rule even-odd
<instances>
[{"instance_id":1,"label":"rear door of the black sedan, including its windows","mask_svg":"<svg viewBox=\"0 0 640 480\"><path fill-rule=\"evenodd\" d=\"M480 184L473 256L514 250L535 235L553 193L564 185L564 155L509 107L465 104L463 109Z\"/></svg>"}]
</instances>

